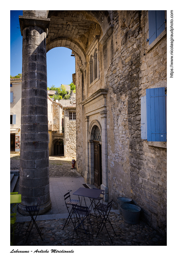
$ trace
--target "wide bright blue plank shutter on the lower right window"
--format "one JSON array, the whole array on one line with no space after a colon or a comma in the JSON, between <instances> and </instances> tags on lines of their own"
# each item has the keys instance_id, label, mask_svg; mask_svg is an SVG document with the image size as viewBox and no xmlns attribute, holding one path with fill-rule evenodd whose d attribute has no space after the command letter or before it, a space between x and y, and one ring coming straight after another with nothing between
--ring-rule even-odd
<instances>
[{"instance_id":1,"label":"wide bright blue plank shutter on the lower right window","mask_svg":"<svg viewBox=\"0 0 177 256\"><path fill-rule=\"evenodd\" d=\"M146 89L147 141L166 141L165 87Z\"/></svg>"}]
</instances>

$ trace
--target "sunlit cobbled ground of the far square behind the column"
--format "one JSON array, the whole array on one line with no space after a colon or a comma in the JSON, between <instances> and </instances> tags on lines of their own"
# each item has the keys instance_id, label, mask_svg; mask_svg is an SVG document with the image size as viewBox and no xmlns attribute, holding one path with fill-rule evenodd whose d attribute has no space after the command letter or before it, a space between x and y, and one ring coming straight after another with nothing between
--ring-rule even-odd
<instances>
[{"instance_id":1,"label":"sunlit cobbled ground of the far square behind the column","mask_svg":"<svg viewBox=\"0 0 177 256\"><path fill-rule=\"evenodd\" d=\"M20 154L10 154L11 170L20 169ZM81 176L76 169L72 169L72 159L61 156L49 156L49 176L50 177L77 177Z\"/></svg>"}]
</instances>

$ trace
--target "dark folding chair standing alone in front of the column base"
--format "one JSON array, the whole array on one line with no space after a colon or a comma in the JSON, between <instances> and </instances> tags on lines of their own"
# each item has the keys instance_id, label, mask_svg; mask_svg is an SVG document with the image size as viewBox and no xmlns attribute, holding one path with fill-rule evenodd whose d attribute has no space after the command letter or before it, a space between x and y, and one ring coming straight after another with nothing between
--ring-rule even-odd
<instances>
[{"instance_id":1,"label":"dark folding chair standing alone in front of the column base","mask_svg":"<svg viewBox=\"0 0 177 256\"><path fill-rule=\"evenodd\" d=\"M41 237L41 239L42 239L41 232L40 232L39 227L38 227L38 225L37 225L37 223L36 223L36 217L38 216L39 208L40 208L40 198L38 198L37 205L26 206L26 212L28 212L29 215L31 216L30 224L31 224L31 222L32 222L32 227L33 227L33 225L35 225L35 227L36 227L36 229L37 229L37 231L38 231L38 233L39 233L39 235L40 235L40 237ZM35 213L36 213L36 214L35 214ZM36 216L35 216L35 219L34 219L34 214L36 215ZM31 233L31 230L32 230L32 227L31 227L31 229L28 231L28 229L29 229L29 227L30 227L30 224L27 226L28 228L27 228L27 230L26 230L26 234L29 232L28 237L29 237L29 235L30 235L30 233ZM26 235L26 234L25 234L25 235ZM28 240L28 237L26 238L26 242L27 242L27 240ZM43 239L42 239L42 241L43 241Z\"/></svg>"}]
</instances>

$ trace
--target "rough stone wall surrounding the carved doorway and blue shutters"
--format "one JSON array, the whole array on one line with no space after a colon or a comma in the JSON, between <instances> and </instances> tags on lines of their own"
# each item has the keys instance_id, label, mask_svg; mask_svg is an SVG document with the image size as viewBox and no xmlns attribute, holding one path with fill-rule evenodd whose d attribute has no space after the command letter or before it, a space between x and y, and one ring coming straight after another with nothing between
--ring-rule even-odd
<instances>
[{"instance_id":1,"label":"rough stone wall surrounding the carved doorway and blue shutters","mask_svg":"<svg viewBox=\"0 0 177 256\"><path fill-rule=\"evenodd\" d=\"M108 88L109 200L113 198L117 207L117 197L132 198L141 207L143 219L165 234L166 148L142 141L140 99L146 88L166 86L166 36L149 48L147 11L114 11L113 24L112 36L99 45L100 80L96 86L89 88L88 67L84 87L84 72L82 76L76 72L77 168L80 173L87 168L88 150L79 102L99 87ZM79 69L76 58L76 71Z\"/></svg>"}]
</instances>

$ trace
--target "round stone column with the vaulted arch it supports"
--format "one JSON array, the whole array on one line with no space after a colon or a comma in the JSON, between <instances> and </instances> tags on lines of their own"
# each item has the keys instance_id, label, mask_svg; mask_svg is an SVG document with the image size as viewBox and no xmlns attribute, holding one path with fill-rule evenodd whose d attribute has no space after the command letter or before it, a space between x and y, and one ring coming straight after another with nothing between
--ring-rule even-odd
<instances>
[{"instance_id":1,"label":"round stone column with the vaulted arch it supports","mask_svg":"<svg viewBox=\"0 0 177 256\"><path fill-rule=\"evenodd\" d=\"M23 49L19 184L22 203L18 209L22 214L25 205L37 203L37 197L41 199L39 214L51 207L46 52L58 46L71 49L80 58L83 72L90 34L99 35L101 43L107 41L113 28L111 16L111 11L28 10L19 16Z\"/></svg>"}]
</instances>

